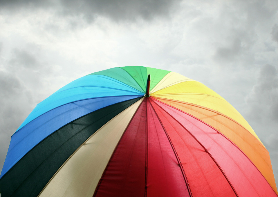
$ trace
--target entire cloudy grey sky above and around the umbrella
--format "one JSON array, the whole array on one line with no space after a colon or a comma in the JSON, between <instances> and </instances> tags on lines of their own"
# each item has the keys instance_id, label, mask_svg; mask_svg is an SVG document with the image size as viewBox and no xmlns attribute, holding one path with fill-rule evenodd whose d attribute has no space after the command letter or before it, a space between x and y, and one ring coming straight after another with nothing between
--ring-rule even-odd
<instances>
[{"instance_id":1,"label":"entire cloudy grey sky above and around the umbrella","mask_svg":"<svg viewBox=\"0 0 278 197\"><path fill-rule=\"evenodd\" d=\"M248 121L278 182L277 0L0 1L0 171L36 104L84 75L147 66L200 81Z\"/></svg>"}]
</instances>

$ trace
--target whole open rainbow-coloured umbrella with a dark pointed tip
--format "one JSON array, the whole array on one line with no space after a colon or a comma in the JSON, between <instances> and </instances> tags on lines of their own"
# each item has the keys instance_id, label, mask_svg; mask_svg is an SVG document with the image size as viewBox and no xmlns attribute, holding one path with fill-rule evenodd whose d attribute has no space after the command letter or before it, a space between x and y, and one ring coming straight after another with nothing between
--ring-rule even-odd
<instances>
[{"instance_id":1,"label":"whole open rainbow-coloured umbrella with a dark pointed tip","mask_svg":"<svg viewBox=\"0 0 278 197\"><path fill-rule=\"evenodd\" d=\"M147 67L92 73L39 103L12 135L0 191L277 196L268 151L225 99Z\"/></svg>"}]
</instances>

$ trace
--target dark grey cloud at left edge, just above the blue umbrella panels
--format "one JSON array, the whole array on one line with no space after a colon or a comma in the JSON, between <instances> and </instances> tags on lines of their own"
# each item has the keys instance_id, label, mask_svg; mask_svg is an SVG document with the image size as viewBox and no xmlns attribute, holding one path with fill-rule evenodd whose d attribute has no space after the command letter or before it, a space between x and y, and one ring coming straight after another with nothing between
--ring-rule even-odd
<instances>
[{"instance_id":1,"label":"dark grey cloud at left edge, just above the blue umbrella panels","mask_svg":"<svg viewBox=\"0 0 278 197\"><path fill-rule=\"evenodd\" d=\"M32 95L15 73L0 70L0 168L8 151L10 136L31 110Z\"/></svg>"}]
</instances>

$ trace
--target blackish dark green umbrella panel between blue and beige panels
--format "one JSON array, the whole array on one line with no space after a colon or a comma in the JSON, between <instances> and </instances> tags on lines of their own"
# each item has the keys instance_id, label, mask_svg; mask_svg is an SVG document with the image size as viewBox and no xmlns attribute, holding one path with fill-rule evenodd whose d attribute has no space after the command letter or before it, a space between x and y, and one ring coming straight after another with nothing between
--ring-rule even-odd
<instances>
[{"instance_id":1,"label":"blackish dark green umbrella panel between blue and beige panels","mask_svg":"<svg viewBox=\"0 0 278 197\"><path fill-rule=\"evenodd\" d=\"M58 129L30 150L0 179L1 196L37 196L86 139L141 98L107 106Z\"/></svg>"}]
</instances>

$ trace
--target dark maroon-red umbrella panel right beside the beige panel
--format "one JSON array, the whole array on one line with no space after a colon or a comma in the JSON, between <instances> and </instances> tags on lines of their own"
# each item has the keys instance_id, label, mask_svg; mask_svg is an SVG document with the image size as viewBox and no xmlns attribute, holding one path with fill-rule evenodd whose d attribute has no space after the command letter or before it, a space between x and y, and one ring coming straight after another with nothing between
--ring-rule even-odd
<instances>
[{"instance_id":1,"label":"dark maroon-red umbrella panel right beside the beige panel","mask_svg":"<svg viewBox=\"0 0 278 197\"><path fill-rule=\"evenodd\" d=\"M144 196L146 99L124 132L95 191L95 196Z\"/></svg>"}]
</instances>

